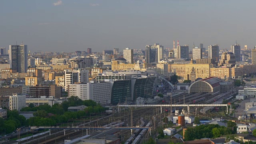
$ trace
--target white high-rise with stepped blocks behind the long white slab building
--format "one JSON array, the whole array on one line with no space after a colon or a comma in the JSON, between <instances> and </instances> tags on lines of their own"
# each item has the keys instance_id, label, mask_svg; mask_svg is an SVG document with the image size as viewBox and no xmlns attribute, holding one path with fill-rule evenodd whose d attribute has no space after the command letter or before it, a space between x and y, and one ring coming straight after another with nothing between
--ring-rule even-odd
<instances>
[{"instance_id":1,"label":"white high-rise with stepped blocks behind the long white slab building","mask_svg":"<svg viewBox=\"0 0 256 144\"><path fill-rule=\"evenodd\" d=\"M88 70L64 70L65 72L65 91L68 91L68 85L75 82L89 82Z\"/></svg>"}]
</instances>

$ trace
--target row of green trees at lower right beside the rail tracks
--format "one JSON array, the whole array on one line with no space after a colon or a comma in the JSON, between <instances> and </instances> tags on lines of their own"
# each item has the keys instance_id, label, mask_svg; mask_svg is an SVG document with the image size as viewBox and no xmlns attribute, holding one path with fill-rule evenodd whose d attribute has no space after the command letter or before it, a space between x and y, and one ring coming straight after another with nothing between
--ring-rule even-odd
<instances>
[{"instance_id":1,"label":"row of green trees at lower right beside the rail tracks","mask_svg":"<svg viewBox=\"0 0 256 144\"><path fill-rule=\"evenodd\" d=\"M228 127L218 124L200 125L187 128L185 132L186 140L197 140L201 138L218 138L221 135L236 134L236 123L229 121Z\"/></svg>"}]
</instances>

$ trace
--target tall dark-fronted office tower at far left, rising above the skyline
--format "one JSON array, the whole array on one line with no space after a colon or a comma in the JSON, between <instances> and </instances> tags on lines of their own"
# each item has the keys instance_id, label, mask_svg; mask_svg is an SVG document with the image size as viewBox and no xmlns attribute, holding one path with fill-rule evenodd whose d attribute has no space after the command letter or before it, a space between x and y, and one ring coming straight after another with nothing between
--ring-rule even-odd
<instances>
[{"instance_id":1,"label":"tall dark-fronted office tower at far left, rising above the skyline","mask_svg":"<svg viewBox=\"0 0 256 144\"><path fill-rule=\"evenodd\" d=\"M26 73L28 68L27 45L10 45L10 68L17 72Z\"/></svg>"}]
</instances>

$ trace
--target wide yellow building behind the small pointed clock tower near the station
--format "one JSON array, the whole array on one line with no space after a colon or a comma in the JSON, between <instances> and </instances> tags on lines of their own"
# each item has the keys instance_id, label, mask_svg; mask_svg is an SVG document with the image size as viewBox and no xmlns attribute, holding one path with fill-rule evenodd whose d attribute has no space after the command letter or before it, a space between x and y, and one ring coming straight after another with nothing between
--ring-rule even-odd
<instances>
[{"instance_id":1,"label":"wide yellow building behind the small pointed clock tower near the station","mask_svg":"<svg viewBox=\"0 0 256 144\"><path fill-rule=\"evenodd\" d=\"M194 67L196 72L196 78L208 78L210 77L210 68L212 64L171 64L171 70L176 71L177 76L189 80L190 73Z\"/></svg>"}]
</instances>

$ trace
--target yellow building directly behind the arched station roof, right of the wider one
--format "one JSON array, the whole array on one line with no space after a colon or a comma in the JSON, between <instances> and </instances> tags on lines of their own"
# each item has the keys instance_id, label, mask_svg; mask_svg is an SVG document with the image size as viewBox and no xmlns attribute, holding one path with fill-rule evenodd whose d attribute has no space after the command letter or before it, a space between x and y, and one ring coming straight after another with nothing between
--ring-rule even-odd
<instances>
[{"instance_id":1,"label":"yellow building directly behind the arched station roof, right of the wider one","mask_svg":"<svg viewBox=\"0 0 256 144\"><path fill-rule=\"evenodd\" d=\"M210 68L210 76L215 76L217 78L224 79L230 78L232 76L232 72L230 68Z\"/></svg>"}]
</instances>

